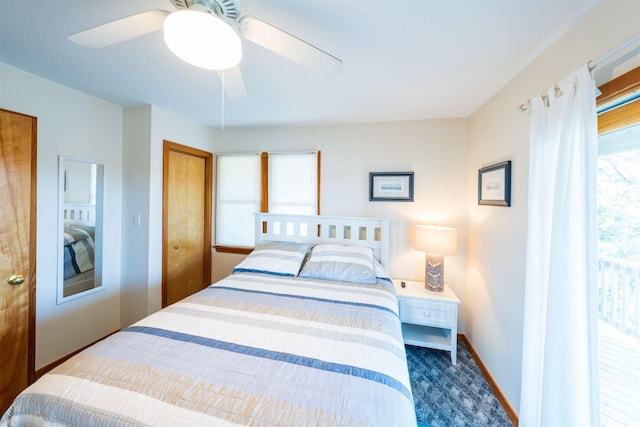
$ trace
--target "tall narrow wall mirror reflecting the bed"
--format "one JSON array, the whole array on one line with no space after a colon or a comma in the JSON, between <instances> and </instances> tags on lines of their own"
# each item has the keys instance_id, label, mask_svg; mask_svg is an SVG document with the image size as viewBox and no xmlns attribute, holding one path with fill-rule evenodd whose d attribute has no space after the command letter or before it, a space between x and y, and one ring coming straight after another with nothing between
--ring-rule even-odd
<instances>
[{"instance_id":1,"label":"tall narrow wall mirror reflecting the bed","mask_svg":"<svg viewBox=\"0 0 640 427\"><path fill-rule=\"evenodd\" d=\"M58 304L102 289L104 163L60 156Z\"/></svg>"}]
</instances>

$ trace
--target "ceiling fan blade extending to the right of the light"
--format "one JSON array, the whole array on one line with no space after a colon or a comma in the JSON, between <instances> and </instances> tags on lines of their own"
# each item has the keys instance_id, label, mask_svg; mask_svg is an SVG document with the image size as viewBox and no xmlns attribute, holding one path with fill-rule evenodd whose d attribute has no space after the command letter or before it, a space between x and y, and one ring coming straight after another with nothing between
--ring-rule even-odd
<instances>
[{"instance_id":1,"label":"ceiling fan blade extending to the right of the light","mask_svg":"<svg viewBox=\"0 0 640 427\"><path fill-rule=\"evenodd\" d=\"M247 40L312 70L328 75L340 72L341 60L286 31L249 15L240 18L239 23L240 32Z\"/></svg>"}]
</instances>

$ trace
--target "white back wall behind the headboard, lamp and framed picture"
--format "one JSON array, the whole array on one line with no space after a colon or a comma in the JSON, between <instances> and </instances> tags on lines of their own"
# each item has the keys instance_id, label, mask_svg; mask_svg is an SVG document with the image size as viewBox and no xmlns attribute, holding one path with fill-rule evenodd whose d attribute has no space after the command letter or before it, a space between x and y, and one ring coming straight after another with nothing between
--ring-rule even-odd
<instances>
[{"instance_id":1,"label":"white back wall behind the headboard, lamp and framed picture","mask_svg":"<svg viewBox=\"0 0 640 427\"><path fill-rule=\"evenodd\" d=\"M390 268L396 278L424 280L424 254L411 243L414 225L457 227L458 255L446 259L446 282L464 299L466 141L467 121L447 119L226 129L216 132L215 151L320 150L321 213L390 218ZM414 202L370 202L369 172L394 171L415 173ZM213 276L218 278L230 273L239 257L215 254L213 259Z\"/></svg>"}]
</instances>

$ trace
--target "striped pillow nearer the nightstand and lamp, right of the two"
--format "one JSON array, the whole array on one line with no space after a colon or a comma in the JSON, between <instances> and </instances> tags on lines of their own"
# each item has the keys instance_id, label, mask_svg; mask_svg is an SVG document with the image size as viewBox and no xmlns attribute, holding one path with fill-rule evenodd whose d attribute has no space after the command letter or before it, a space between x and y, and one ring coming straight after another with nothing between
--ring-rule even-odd
<instances>
[{"instance_id":1,"label":"striped pillow nearer the nightstand and lamp, right of the two","mask_svg":"<svg viewBox=\"0 0 640 427\"><path fill-rule=\"evenodd\" d=\"M376 275L373 260L371 248L316 245L311 249L309 259L300 271L300 277L374 284Z\"/></svg>"}]
</instances>

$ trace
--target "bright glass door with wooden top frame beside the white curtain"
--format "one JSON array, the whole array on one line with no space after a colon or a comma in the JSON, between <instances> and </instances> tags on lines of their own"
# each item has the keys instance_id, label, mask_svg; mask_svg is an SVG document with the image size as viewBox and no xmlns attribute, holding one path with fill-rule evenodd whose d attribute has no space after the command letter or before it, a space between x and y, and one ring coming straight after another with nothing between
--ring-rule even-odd
<instances>
[{"instance_id":1,"label":"bright glass door with wooden top frame beside the white curtain","mask_svg":"<svg viewBox=\"0 0 640 427\"><path fill-rule=\"evenodd\" d=\"M598 311L603 425L640 425L640 68L598 97Z\"/></svg>"}]
</instances>

